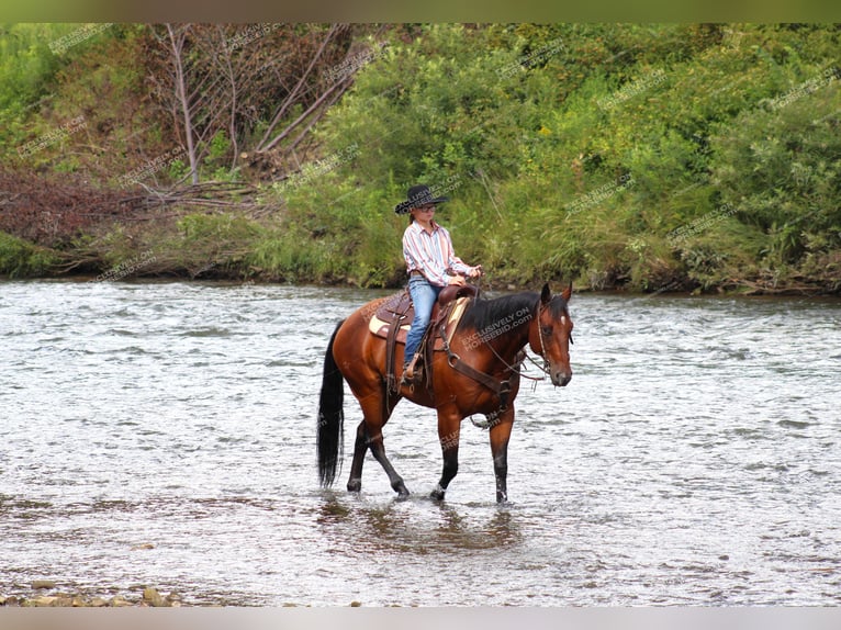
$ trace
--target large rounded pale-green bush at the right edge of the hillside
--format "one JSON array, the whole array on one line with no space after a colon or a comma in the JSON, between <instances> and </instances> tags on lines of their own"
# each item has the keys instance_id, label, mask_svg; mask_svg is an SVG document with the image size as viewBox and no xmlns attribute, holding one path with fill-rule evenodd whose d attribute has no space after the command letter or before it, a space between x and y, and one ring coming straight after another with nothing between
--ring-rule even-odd
<instances>
[{"instance_id":1,"label":"large rounded pale-green bush at the right edge of the hillside","mask_svg":"<svg viewBox=\"0 0 841 630\"><path fill-rule=\"evenodd\" d=\"M816 68L713 137L721 199L765 235L772 267L796 263L815 235L841 248L840 83L837 68Z\"/></svg>"}]
</instances>

